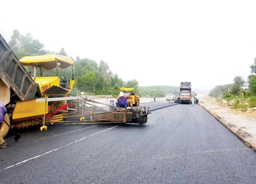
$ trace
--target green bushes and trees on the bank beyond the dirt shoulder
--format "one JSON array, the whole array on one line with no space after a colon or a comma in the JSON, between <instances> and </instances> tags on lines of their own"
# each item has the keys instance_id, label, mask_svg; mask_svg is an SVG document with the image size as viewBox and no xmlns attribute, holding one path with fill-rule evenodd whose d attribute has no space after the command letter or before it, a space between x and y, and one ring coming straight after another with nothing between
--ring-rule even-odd
<instances>
[{"instance_id":1,"label":"green bushes and trees on the bank beyond the dirt shoulder","mask_svg":"<svg viewBox=\"0 0 256 184\"><path fill-rule=\"evenodd\" d=\"M251 75L248 76L249 88L243 89L245 80L241 76L234 77L232 84L219 85L209 93L210 97L217 98L218 101L227 103L231 109L246 111L256 107L256 58L250 65Z\"/></svg>"}]
</instances>

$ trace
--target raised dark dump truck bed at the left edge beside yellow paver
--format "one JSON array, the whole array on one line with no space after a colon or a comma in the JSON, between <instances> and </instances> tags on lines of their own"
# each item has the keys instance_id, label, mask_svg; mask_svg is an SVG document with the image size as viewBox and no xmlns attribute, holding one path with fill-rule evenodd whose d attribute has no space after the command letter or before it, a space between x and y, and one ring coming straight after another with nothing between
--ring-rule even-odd
<instances>
[{"instance_id":1,"label":"raised dark dump truck bed at the left edge beside yellow paver","mask_svg":"<svg viewBox=\"0 0 256 184\"><path fill-rule=\"evenodd\" d=\"M30 100L40 94L37 94L38 84L27 73L1 34L0 86L0 101L5 104Z\"/></svg>"}]
</instances>

